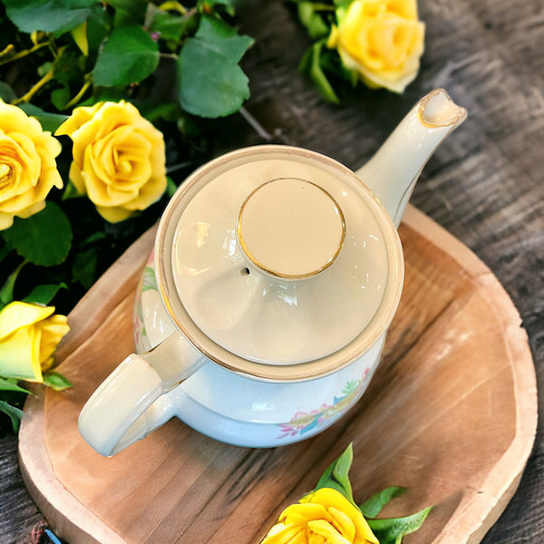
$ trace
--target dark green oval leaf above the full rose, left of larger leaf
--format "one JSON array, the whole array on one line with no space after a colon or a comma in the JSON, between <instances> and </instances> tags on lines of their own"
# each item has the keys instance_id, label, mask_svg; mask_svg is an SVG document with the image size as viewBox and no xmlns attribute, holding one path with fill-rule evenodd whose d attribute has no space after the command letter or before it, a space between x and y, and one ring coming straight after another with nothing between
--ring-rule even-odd
<instances>
[{"instance_id":1,"label":"dark green oval leaf above the full rose, left of larger leaf","mask_svg":"<svg viewBox=\"0 0 544 544\"><path fill-rule=\"evenodd\" d=\"M159 45L141 26L116 28L92 70L94 84L103 87L140 83L159 65Z\"/></svg>"}]
</instances>

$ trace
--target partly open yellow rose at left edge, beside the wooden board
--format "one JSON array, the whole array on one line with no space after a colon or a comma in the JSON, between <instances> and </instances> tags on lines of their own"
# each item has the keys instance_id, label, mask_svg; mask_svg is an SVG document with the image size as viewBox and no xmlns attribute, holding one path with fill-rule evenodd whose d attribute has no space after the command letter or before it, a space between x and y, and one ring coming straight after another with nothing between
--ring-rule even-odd
<instances>
[{"instance_id":1,"label":"partly open yellow rose at left edge, beside the wooden board","mask_svg":"<svg viewBox=\"0 0 544 544\"><path fill-rule=\"evenodd\" d=\"M0 375L42 383L53 352L70 327L53 306L12 302L0 311Z\"/></svg>"}]
</instances>

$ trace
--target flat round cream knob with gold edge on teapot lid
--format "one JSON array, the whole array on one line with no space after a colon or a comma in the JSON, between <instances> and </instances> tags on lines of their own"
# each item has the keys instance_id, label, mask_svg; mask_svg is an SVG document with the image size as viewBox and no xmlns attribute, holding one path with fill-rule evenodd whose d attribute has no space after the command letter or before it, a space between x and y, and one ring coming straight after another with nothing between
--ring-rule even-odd
<instances>
[{"instance_id":1,"label":"flat round cream knob with gold edge on teapot lid","mask_svg":"<svg viewBox=\"0 0 544 544\"><path fill-rule=\"evenodd\" d=\"M237 234L255 266L297 279L315 276L335 262L345 219L325 189L306 180L278 178L255 189L242 204Z\"/></svg>"}]
</instances>

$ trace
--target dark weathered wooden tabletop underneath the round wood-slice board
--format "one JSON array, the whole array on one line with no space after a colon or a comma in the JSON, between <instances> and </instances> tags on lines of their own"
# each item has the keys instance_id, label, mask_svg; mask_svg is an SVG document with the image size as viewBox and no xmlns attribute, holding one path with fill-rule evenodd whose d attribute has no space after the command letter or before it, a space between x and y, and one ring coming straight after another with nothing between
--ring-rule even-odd
<instances>
[{"instance_id":1,"label":"dark weathered wooden tabletop underneath the round wood-slice board","mask_svg":"<svg viewBox=\"0 0 544 544\"><path fill-rule=\"evenodd\" d=\"M420 0L421 73L403 95L363 88L341 107L322 102L296 66L309 44L287 4L238 7L256 44L243 61L248 112L229 120L218 153L279 142L357 168L423 94L445 88L469 118L428 163L412 203L471 248L507 290L544 379L544 5L540 0ZM540 396L543 393L540 393ZM539 423L520 488L485 544L544 541L544 434ZM0 542L30 542L42 519L24 488L15 438L0 441ZM76 543L72 543L76 544Z\"/></svg>"}]
</instances>

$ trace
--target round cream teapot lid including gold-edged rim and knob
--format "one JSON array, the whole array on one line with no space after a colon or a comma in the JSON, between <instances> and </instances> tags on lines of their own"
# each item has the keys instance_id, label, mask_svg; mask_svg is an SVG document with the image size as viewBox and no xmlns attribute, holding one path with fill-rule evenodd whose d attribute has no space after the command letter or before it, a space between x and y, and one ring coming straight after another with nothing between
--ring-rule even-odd
<instances>
[{"instance_id":1,"label":"round cream teapot lid including gold-edged rim and knob","mask_svg":"<svg viewBox=\"0 0 544 544\"><path fill-rule=\"evenodd\" d=\"M351 170L283 145L230 152L183 182L155 266L174 323L230 370L297 380L384 334L403 287L392 220Z\"/></svg>"}]
</instances>

